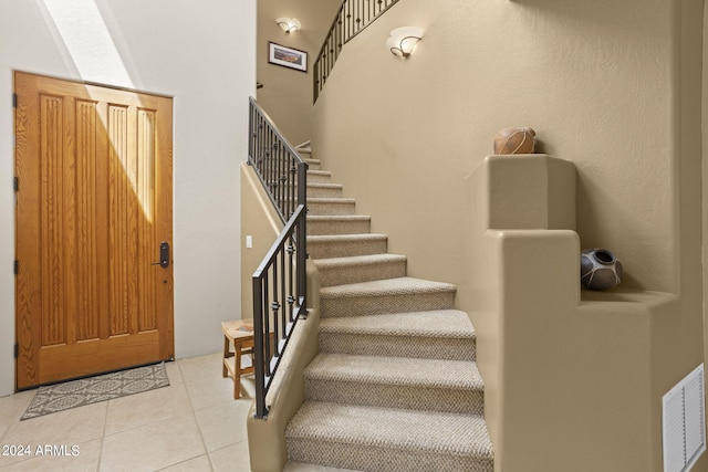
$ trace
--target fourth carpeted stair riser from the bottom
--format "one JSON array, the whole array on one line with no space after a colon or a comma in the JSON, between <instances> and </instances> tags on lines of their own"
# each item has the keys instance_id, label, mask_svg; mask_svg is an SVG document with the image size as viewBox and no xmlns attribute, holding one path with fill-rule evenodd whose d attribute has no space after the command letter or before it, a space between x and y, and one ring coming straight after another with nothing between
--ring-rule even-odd
<instances>
[{"instance_id":1,"label":"fourth carpeted stair riser from the bottom","mask_svg":"<svg viewBox=\"0 0 708 472\"><path fill-rule=\"evenodd\" d=\"M321 296L322 317L451 310L455 292L413 292L376 296Z\"/></svg>"}]
</instances>

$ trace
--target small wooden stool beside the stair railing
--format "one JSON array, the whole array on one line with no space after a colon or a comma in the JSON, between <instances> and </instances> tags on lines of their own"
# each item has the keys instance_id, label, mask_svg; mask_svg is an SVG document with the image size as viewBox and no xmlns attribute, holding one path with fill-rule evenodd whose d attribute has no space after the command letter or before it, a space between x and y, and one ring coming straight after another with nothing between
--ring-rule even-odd
<instances>
[{"instance_id":1,"label":"small wooden stool beside the stair railing","mask_svg":"<svg viewBox=\"0 0 708 472\"><path fill-rule=\"evenodd\" d=\"M241 376L253 373L253 363L250 367L241 368L241 356L253 355L253 321L238 319L221 323L223 333L223 366L222 377L233 379L233 398L241 397ZM233 350L231 350L233 345ZM233 357L233 363L230 361Z\"/></svg>"}]
</instances>

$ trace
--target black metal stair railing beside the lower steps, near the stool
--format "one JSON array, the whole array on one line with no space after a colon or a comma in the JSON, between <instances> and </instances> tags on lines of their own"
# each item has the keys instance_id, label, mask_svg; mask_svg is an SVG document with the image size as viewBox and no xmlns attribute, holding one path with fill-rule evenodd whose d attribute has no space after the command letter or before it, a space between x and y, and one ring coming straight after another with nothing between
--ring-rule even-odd
<instances>
[{"instance_id":1,"label":"black metal stair railing beside the lower steps, near the stool","mask_svg":"<svg viewBox=\"0 0 708 472\"><path fill-rule=\"evenodd\" d=\"M285 227L253 273L256 417L266 418L266 395L298 319L306 316L308 162L253 98L249 155ZM238 381L238 380L237 380Z\"/></svg>"}]
</instances>

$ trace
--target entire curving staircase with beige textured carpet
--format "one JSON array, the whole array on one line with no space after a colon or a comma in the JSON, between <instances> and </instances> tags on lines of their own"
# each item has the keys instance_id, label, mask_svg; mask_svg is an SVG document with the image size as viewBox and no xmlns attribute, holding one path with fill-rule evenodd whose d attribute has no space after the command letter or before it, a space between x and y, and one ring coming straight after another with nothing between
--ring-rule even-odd
<instances>
[{"instance_id":1,"label":"entire curving staircase with beige textured carpet","mask_svg":"<svg viewBox=\"0 0 708 472\"><path fill-rule=\"evenodd\" d=\"M285 430L285 470L492 472L475 328L454 308L456 287L408 277L406 258L308 160L320 353Z\"/></svg>"}]
</instances>

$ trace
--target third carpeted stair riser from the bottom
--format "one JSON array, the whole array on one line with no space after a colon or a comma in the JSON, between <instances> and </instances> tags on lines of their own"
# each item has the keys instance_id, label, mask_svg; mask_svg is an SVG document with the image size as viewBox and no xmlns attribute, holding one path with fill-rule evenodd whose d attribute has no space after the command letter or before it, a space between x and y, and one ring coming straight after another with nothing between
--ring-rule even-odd
<instances>
[{"instance_id":1,"label":"third carpeted stair riser from the bottom","mask_svg":"<svg viewBox=\"0 0 708 472\"><path fill-rule=\"evenodd\" d=\"M475 360L472 339L320 332L320 352L356 356Z\"/></svg>"}]
</instances>

